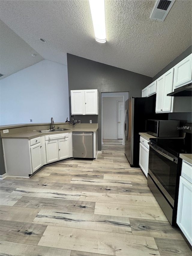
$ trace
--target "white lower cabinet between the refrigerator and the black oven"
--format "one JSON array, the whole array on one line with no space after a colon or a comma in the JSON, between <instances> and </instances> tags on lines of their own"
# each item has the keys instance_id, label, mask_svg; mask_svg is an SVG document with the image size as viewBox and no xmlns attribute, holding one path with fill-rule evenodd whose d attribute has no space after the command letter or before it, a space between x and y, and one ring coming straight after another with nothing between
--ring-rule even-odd
<instances>
[{"instance_id":1,"label":"white lower cabinet between the refrigerator and the black oven","mask_svg":"<svg viewBox=\"0 0 192 256\"><path fill-rule=\"evenodd\" d=\"M143 137L140 137L139 145L139 165L143 170L143 173L147 177L148 167L149 167L149 140L146 140Z\"/></svg>"}]
</instances>

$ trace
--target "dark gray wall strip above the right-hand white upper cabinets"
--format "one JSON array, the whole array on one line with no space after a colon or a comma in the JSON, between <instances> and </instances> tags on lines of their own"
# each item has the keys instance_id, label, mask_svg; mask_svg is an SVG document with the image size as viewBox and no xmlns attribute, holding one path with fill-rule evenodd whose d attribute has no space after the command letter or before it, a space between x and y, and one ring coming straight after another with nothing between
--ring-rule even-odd
<instances>
[{"instance_id":1,"label":"dark gray wall strip above the right-hand white upper cabinets","mask_svg":"<svg viewBox=\"0 0 192 256\"><path fill-rule=\"evenodd\" d=\"M170 64L168 64L165 68L163 68L158 74L155 75L155 77L153 77L153 81L155 81L156 79L158 79L158 77L161 77L165 72L167 72L168 70L170 70L171 68L173 68L177 63L179 63L180 61L182 61L184 58L186 58L187 56L189 56L189 54L192 53L192 46L190 46L189 48L187 48L182 54L180 54L177 58L175 58L172 62L170 62Z\"/></svg>"}]
</instances>

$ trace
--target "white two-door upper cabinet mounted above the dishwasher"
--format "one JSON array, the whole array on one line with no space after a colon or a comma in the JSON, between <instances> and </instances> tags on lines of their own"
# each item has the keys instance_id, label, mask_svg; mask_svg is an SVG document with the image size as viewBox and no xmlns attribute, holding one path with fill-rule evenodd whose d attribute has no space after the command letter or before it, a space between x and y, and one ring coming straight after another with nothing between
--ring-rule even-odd
<instances>
[{"instance_id":1,"label":"white two-door upper cabinet mounted above the dishwasher","mask_svg":"<svg viewBox=\"0 0 192 256\"><path fill-rule=\"evenodd\" d=\"M98 115L98 90L71 90L72 115Z\"/></svg>"}]
</instances>

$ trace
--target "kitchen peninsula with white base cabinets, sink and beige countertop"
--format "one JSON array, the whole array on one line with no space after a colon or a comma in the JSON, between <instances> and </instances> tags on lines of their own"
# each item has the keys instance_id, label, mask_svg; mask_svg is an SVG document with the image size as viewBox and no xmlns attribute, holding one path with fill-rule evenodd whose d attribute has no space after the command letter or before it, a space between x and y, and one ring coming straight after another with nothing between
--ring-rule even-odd
<instances>
[{"instance_id":1,"label":"kitchen peninsula with white base cabinets, sink and beige countertop","mask_svg":"<svg viewBox=\"0 0 192 256\"><path fill-rule=\"evenodd\" d=\"M29 177L44 165L72 158L72 132L93 133L93 158L96 159L98 124L60 122L54 125L61 131L40 132L48 130L50 123L0 126L6 170L4 177Z\"/></svg>"}]
</instances>

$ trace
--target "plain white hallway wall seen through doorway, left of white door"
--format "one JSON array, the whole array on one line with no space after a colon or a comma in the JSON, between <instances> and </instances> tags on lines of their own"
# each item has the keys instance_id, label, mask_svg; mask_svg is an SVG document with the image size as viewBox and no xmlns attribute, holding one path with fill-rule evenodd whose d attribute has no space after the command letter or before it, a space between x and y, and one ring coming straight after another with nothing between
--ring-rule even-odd
<instances>
[{"instance_id":1,"label":"plain white hallway wall seen through doorway, left of white door","mask_svg":"<svg viewBox=\"0 0 192 256\"><path fill-rule=\"evenodd\" d=\"M123 97L103 97L103 139L117 139L117 101Z\"/></svg>"}]
</instances>

